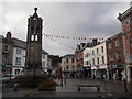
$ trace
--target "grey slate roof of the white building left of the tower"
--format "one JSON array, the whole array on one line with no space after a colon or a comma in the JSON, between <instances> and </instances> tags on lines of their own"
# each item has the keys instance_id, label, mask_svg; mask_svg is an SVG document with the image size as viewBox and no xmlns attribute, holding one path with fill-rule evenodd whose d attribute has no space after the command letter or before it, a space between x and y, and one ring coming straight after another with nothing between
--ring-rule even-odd
<instances>
[{"instance_id":1,"label":"grey slate roof of the white building left of the tower","mask_svg":"<svg viewBox=\"0 0 132 99\"><path fill-rule=\"evenodd\" d=\"M15 37L12 37L12 41L15 47L26 48L26 42L15 38Z\"/></svg>"}]
</instances>

